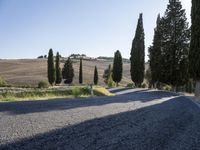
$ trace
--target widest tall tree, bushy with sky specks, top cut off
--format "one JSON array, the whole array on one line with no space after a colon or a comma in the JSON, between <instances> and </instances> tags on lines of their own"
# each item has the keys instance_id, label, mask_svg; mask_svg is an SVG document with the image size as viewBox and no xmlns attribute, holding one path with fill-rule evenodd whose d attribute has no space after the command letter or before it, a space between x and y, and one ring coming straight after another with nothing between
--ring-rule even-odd
<instances>
[{"instance_id":1,"label":"widest tall tree, bushy with sky specks, top cut off","mask_svg":"<svg viewBox=\"0 0 200 150\"><path fill-rule=\"evenodd\" d=\"M175 88L188 80L188 50L190 31L185 10L179 0L169 0L161 29L161 81Z\"/></svg>"}]
</instances>

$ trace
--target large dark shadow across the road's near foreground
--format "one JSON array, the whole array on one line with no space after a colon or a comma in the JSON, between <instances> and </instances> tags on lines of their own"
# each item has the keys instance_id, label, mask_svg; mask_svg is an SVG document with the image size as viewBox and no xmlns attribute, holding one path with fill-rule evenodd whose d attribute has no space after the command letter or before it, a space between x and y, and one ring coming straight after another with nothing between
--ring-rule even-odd
<instances>
[{"instance_id":1,"label":"large dark shadow across the road's near foreground","mask_svg":"<svg viewBox=\"0 0 200 150\"><path fill-rule=\"evenodd\" d=\"M198 149L199 115L200 110L195 105L178 97L0 145L0 149Z\"/></svg>"}]
</instances>

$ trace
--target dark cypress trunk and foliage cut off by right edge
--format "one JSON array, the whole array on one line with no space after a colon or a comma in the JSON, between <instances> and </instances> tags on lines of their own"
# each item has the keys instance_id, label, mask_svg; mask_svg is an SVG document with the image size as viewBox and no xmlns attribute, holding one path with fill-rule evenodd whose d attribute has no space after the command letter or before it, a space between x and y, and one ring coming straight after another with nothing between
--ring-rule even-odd
<instances>
[{"instance_id":1,"label":"dark cypress trunk and foliage cut off by right edge","mask_svg":"<svg viewBox=\"0 0 200 150\"><path fill-rule=\"evenodd\" d=\"M195 80L195 96L200 97L200 1L192 0L191 43L189 51L189 70Z\"/></svg>"}]
</instances>

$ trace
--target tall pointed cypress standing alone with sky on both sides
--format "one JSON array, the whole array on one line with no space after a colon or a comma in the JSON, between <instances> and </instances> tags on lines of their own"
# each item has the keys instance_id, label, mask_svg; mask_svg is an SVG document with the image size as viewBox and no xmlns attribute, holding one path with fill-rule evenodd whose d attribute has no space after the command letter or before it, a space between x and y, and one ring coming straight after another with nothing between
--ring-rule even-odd
<instances>
[{"instance_id":1,"label":"tall pointed cypress standing alone with sky on both sides","mask_svg":"<svg viewBox=\"0 0 200 150\"><path fill-rule=\"evenodd\" d=\"M135 37L131 49L131 79L140 86L144 80L144 28L142 14L139 15Z\"/></svg>"}]
</instances>

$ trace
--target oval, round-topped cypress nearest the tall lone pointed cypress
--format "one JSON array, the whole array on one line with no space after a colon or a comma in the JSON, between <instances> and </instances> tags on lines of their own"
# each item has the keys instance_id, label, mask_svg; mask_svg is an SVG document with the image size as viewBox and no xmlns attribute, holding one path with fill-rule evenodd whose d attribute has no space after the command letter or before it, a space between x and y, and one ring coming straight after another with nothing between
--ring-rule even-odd
<instances>
[{"instance_id":1,"label":"oval, round-topped cypress nearest the tall lone pointed cypress","mask_svg":"<svg viewBox=\"0 0 200 150\"><path fill-rule=\"evenodd\" d=\"M114 55L113 73L112 73L113 81L117 83L117 86L122 79L122 72L123 72L122 56L120 51L117 50Z\"/></svg>"}]
</instances>

